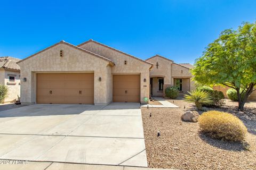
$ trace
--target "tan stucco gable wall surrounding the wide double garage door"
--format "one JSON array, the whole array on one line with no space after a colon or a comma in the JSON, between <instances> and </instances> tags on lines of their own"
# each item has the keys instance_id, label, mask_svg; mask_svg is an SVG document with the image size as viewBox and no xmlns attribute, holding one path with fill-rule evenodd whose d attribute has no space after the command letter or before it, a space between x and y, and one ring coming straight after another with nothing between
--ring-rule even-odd
<instances>
[{"instance_id":1,"label":"tan stucco gable wall surrounding the wide double garage door","mask_svg":"<svg viewBox=\"0 0 256 170\"><path fill-rule=\"evenodd\" d=\"M60 50L63 50L63 57L60 57ZM54 46L18 64L21 67L21 79L27 78L26 82L21 81L23 104L36 102L36 73L43 72L94 72L94 104L108 104L111 101L108 94L111 91L111 67L108 62L66 44Z\"/></svg>"}]
</instances>

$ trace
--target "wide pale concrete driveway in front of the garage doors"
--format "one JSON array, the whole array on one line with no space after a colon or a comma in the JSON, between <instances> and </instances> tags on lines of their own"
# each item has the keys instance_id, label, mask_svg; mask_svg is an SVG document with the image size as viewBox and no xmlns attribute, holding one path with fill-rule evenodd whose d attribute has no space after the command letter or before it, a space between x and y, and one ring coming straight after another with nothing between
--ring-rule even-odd
<instances>
[{"instance_id":1,"label":"wide pale concrete driveway in front of the garage doors","mask_svg":"<svg viewBox=\"0 0 256 170\"><path fill-rule=\"evenodd\" d=\"M146 167L140 104L37 104L2 111L0 159Z\"/></svg>"}]
</instances>

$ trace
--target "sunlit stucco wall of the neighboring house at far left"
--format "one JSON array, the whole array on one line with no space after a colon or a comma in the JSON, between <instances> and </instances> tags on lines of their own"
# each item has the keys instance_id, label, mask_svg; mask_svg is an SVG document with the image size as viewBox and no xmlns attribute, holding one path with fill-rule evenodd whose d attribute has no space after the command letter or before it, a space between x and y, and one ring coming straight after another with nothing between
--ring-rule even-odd
<instances>
[{"instance_id":1,"label":"sunlit stucco wall of the neighboring house at far left","mask_svg":"<svg viewBox=\"0 0 256 170\"><path fill-rule=\"evenodd\" d=\"M15 82L9 82L9 74L15 75ZM20 72L0 70L0 84L8 88L8 96L4 102L14 101L20 96Z\"/></svg>"}]
</instances>

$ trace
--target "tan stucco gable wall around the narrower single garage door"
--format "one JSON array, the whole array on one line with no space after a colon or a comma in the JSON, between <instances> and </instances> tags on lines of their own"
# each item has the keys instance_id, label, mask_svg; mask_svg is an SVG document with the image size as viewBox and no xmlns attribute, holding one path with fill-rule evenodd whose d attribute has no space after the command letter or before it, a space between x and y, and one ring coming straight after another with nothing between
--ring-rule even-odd
<instances>
[{"instance_id":1,"label":"tan stucco gable wall around the narrower single garage door","mask_svg":"<svg viewBox=\"0 0 256 170\"><path fill-rule=\"evenodd\" d=\"M101 56L107 57L115 63L115 66L111 68L111 73L113 74L140 74L140 98L141 103L143 103L144 97L149 97L149 68L151 64L142 62L125 54L116 52L113 49L107 48L105 46L98 45L96 43L90 42L86 43L81 48L90 50L93 53L99 54ZM125 65L124 62L127 62ZM144 82L146 79L146 82Z\"/></svg>"}]
</instances>

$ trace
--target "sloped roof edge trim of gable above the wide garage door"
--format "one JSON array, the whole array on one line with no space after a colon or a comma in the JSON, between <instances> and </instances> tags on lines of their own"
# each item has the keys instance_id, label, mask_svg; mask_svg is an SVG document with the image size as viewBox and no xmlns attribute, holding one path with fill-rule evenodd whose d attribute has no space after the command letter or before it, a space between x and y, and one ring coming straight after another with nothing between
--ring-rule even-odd
<instances>
[{"instance_id":1,"label":"sloped roof edge trim of gable above the wide garage door","mask_svg":"<svg viewBox=\"0 0 256 170\"><path fill-rule=\"evenodd\" d=\"M22 61L25 61L25 60L27 60L28 58L31 58L31 57L33 57L33 56L39 54L39 53L44 52L44 51L47 50L47 49L50 49L50 48L52 48L52 47L54 47L54 46L57 46L57 45L59 45L59 44L65 44L65 45L68 45L68 46L73 47L73 48L75 48L75 49L81 50L82 52L85 52L85 53L91 54L91 55L93 55L93 56L95 56L95 57L101 58L102 60L105 60L105 61L109 62L109 64L110 64L111 66L114 66L114 65L115 65L115 63L114 63L113 61L109 60L109 59L106 58L106 57L100 56L100 55L98 55L98 54L95 54L95 53L93 53L93 52L90 52L89 50L86 50L86 49L77 47L77 46L75 46L75 45L69 44L69 43L67 43L67 42L65 42L65 41L63 41L63 40L60 41L59 43L56 43L56 44L54 44L54 45L52 45L52 46L50 46L50 47L47 47L47 48L41 50L41 51L39 51L39 52L37 52L37 53L35 53L35 54L33 54L33 55L30 55L30 56L24 58L23 60L21 60L21 61L19 61L19 62L17 62L17 63L20 63L20 62L22 62Z\"/></svg>"}]
</instances>

